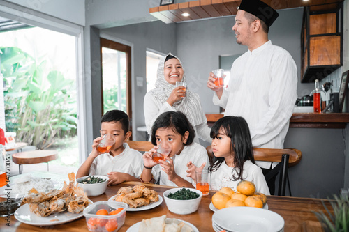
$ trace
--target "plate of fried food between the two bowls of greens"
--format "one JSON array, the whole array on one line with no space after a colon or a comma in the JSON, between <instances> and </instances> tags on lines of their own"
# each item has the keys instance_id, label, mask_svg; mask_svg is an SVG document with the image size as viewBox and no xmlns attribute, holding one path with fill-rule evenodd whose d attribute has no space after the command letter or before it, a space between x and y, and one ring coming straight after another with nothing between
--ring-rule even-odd
<instances>
[{"instance_id":1,"label":"plate of fried food between the two bowls of greens","mask_svg":"<svg viewBox=\"0 0 349 232\"><path fill-rule=\"evenodd\" d=\"M110 206L115 201L127 203L128 209L126 211L141 211L159 206L163 202L163 198L156 191L150 190L144 185L135 185L121 187L116 195L108 199Z\"/></svg>"}]
</instances>

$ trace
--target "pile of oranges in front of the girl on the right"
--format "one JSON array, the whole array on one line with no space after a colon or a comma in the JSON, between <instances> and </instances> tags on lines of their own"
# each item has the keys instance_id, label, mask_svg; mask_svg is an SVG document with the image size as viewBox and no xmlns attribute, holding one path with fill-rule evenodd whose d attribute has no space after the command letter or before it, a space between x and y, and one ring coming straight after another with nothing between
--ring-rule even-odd
<instances>
[{"instance_id":1,"label":"pile of oranges in front of the girl on the right","mask_svg":"<svg viewBox=\"0 0 349 232\"><path fill-rule=\"evenodd\" d=\"M218 210L235 206L263 208L266 203L267 196L255 192L255 184L247 180L242 180L237 184L237 192L230 187L222 187L212 196L212 204Z\"/></svg>"}]
</instances>

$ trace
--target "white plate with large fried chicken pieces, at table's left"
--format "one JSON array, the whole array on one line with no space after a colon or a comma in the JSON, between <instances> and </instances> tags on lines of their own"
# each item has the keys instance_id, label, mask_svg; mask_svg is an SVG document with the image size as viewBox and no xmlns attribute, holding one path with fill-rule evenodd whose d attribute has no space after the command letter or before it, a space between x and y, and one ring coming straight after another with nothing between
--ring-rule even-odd
<instances>
[{"instance_id":1,"label":"white plate with large fried chicken pieces, at table's left","mask_svg":"<svg viewBox=\"0 0 349 232\"><path fill-rule=\"evenodd\" d=\"M34 188L24 197L15 218L34 226L52 226L71 222L83 216L84 208L92 203L84 190L75 184L75 173L69 173L69 184L64 182L62 190L38 192Z\"/></svg>"}]
</instances>

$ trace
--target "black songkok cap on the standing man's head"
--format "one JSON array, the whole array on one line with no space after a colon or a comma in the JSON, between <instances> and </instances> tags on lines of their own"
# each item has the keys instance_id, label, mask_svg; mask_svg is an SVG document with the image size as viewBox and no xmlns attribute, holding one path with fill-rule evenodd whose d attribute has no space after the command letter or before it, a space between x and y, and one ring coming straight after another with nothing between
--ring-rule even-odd
<instances>
[{"instance_id":1,"label":"black songkok cap on the standing man's head","mask_svg":"<svg viewBox=\"0 0 349 232\"><path fill-rule=\"evenodd\" d=\"M276 10L260 0L242 0L239 10L255 15L255 17L265 22L267 26L272 26L276 18L279 17L279 13Z\"/></svg>"}]
</instances>

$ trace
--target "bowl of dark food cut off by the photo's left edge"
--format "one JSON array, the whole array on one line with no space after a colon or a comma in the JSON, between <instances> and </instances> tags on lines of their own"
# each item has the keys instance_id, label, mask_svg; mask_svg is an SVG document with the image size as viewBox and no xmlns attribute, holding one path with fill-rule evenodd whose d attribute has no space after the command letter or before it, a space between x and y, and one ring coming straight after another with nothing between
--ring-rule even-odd
<instances>
[{"instance_id":1,"label":"bowl of dark food cut off by the photo's left edge","mask_svg":"<svg viewBox=\"0 0 349 232\"><path fill-rule=\"evenodd\" d=\"M23 194L1 194L0 195L0 217L7 217L13 215L17 208L20 208Z\"/></svg>"}]
</instances>

